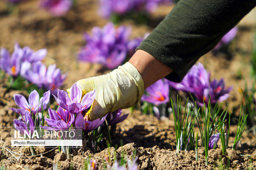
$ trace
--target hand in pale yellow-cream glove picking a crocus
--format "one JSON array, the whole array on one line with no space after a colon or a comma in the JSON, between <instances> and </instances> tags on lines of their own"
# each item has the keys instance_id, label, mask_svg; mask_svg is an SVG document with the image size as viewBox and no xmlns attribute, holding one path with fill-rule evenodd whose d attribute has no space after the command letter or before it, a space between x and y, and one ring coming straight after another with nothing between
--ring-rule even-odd
<instances>
[{"instance_id":1,"label":"hand in pale yellow-cream glove picking a crocus","mask_svg":"<svg viewBox=\"0 0 256 170\"><path fill-rule=\"evenodd\" d=\"M95 100L86 113L90 120L102 118L110 111L133 106L140 101L144 91L143 79L129 62L111 73L77 81L83 95L96 90ZM70 89L67 89L69 93Z\"/></svg>"}]
</instances>

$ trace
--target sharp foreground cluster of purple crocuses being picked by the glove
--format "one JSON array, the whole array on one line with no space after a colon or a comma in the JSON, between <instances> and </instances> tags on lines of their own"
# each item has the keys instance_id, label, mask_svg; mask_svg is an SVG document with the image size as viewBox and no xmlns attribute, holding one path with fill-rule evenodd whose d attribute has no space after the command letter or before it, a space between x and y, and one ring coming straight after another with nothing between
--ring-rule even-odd
<instances>
[{"instance_id":1,"label":"sharp foreground cluster of purple crocuses being picked by the glove","mask_svg":"<svg viewBox=\"0 0 256 170\"><path fill-rule=\"evenodd\" d=\"M48 126L44 126L48 130L62 130L70 127L81 127L84 132L88 133L91 130L104 125L105 120L108 125L113 125L124 121L128 114L122 114L122 110L117 110L108 113L101 119L93 121L84 120L84 113L86 113L95 99L95 91L82 96L82 90L76 83L71 87L70 94L66 91L58 90L58 96L54 96L58 105L57 111L48 108L49 118L45 118ZM49 102L50 91L44 93L44 96L39 99L37 91L32 91L29 94L29 101L20 94L14 95L15 103L20 108L10 108L12 111L21 115L20 119L14 120L14 126L17 130L28 131L25 127L35 127L33 123L36 116L41 115L42 109L47 109ZM34 116L32 116L34 115ZM41 118L40 118L41 119ZM31 129L30 129L31 130ZM22 133L23 134L23 133Z\"/></svg>"}]
</instances>

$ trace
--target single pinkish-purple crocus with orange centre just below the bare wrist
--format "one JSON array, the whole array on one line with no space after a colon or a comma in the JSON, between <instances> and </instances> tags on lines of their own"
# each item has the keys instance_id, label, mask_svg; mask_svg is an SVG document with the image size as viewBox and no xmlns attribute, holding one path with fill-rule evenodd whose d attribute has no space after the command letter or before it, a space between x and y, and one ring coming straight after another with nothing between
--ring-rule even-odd
<instances>
[{"instance_id":1,"label":"single pinkish-purple crocus with orange centre just below the bare wrist","mask_svg":"<svg viewBox=\"0 0 256 170\"><path fill-rule=\"evenodd\" d=\"M168 80L160 79L146 90L148 95L143 95L141 100L160 105L169 102L169 85Z\"/></svg>"}]
</instances>

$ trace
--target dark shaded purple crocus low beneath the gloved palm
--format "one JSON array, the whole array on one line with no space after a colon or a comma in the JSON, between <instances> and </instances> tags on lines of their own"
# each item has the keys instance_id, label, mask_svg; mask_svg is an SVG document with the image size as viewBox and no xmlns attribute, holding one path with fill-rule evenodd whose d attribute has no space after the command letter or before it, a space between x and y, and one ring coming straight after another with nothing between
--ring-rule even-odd
<instances>
[{"instance_id":1,"label":"dark shaded purple crocus low beneath the gloved palm","mask_svg":"<svg viewBox=\"0 0 256 170\"><path fill-rule=\"evenodd\" d=\"M108 125L113 125L124 121L128 117L129 113L124 114L122 116L121 115L121 109L108 113L108 116L106 117Z\"/></svg>"}]
</instances>

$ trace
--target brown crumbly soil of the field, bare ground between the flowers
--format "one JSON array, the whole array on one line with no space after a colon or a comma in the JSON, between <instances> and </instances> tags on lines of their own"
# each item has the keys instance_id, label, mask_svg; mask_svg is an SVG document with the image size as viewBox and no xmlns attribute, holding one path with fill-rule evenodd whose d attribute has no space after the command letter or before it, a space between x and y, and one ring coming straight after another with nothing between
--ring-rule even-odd
<instances>
[{"instance_id":1,"label":"brown crumbly soil of the field, bare ground between the flowers","mask_svg":"<svg viewBox=\"0 0 256 170\"><path fill-rule=\"evenodd\" d=\"M97 14L96 0L79 0L79 5L69 11L64 17L52 17L47 12L38 9L38 1L31 0L20 6L19 14L6 14L3 2L0 2L0 47L13 50L15 42L19 42L21 47L30 46L34 50L47 48L48 55L44 60L47 65L56 63L64 73L68 73L64 89L69 88L79 79L102 74L99 72L101 65L90 65L79 63L76 54L84 45L82 34L90 31L93 26L104 26L108 21L99 17ZM133 21L125 21L124 25L131 25L133 28L132 37L143 37L146 32L151 32L163 17L168 14L172 6L161 6L153 14L150 26L136 25ZM200 59L211 77L220 79L224 77L229 86L234 86L229 102L231 108L241 104L241 94L238 89L244 87L244 80L251 85L250 79L250 54L253 46L253 19L246 18L239 25L239 34L230 46L233 51L232 58L226 54L213 56L212 53L206 54ZM242 79L239 79L237 71L241 70ZM3 88L6 79L0 82L0 127L12 126L15 113L9 110L15 107L13 101L14 94L23 94L24 91L7 91ZM126 109L125 113L130 111ZM195 128L197 130L197 128ZM230 147L236 133L236 126L231 127ZM29 157L28 148L23 148L22 156L17 153L20 150L7 148L10 142L9 129L4 128L0 131L0 144L6 149L0 151L0 166L7 169L32 170L52 169L52 165L58 163L61 169L83 169L84 160L91 156L96 160L98 168L103 168L103 161L110 150L113 158L114 148L103 148L99 153L92 153L90 150L80 150L71 156L72 160L66 159L58 149L38 148L36 154L45 153L42 157ZM204 148L199 149L199 161L195 161L195 151L176 153L175 151L175 130L172 119L157 120L153 116L146 116L135 111L128 116L128 119L117 125L116 133L112 136L112 146L120 145L120 141L125 144L117 149L117 157L125 150L131 153L137 148L139 170L205 170L215 169L221 164L227 165L230 162L231 169L256 169L256 136L244 132L241 145L238 150L228 149L227 155L222 155L220 149L209 151L209 165L205 166ZM220 145L220 144L219 144ZM8 152L15 152L16 159ZM47 153L46 153L47 152ZM129 155L129 154L128 154Z\"/></svg>"}]
</instances>

